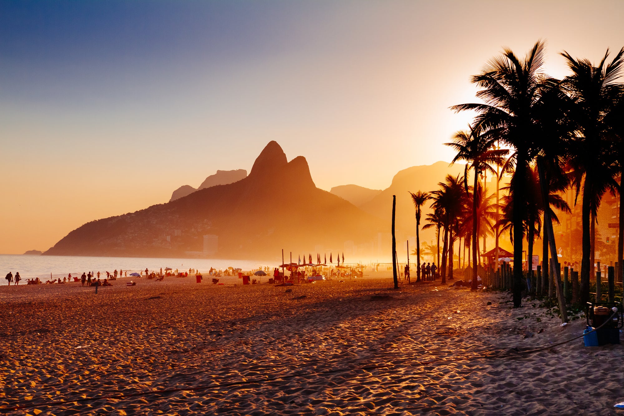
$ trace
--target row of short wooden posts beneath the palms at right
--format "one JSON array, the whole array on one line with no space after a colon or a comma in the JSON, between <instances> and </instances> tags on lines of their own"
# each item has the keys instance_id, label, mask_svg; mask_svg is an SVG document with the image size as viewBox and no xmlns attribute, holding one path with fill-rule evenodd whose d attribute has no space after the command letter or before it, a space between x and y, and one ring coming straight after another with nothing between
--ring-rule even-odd
<instances>
[{"instance_id":1,"label":"row of short wooden posts beneath the palms at right","mask_svg":"<svg viewBox=\"0 0 624 416\"><path fill-rule=\"evenodd\" d=\"M597 302L602 301L602 276L600 275L600 262L598 262L599 270L596 273L596 299ZM615 270L617 264L607 267L607 299L608 302L615 302ZM485 267L479 266L478 273L483 279L484 285L492 287L498 290L512 290L514 287L514 270L508 262L499 262L499 268L494 270L494 263L486 265ZM531 273L530 289L527 284L529 278L529 272L524 272L523 288L529 290L531 295L548 295L548 297L555 297L554 279L552 275L542 276L542 267L537 266L537 271ZM550 279L549 279L550 278ZM563 294L567 302L572 304L578 304L579 302L579 280L578 271L572 267L563 267Z\"/></svg>"}]
</instances>

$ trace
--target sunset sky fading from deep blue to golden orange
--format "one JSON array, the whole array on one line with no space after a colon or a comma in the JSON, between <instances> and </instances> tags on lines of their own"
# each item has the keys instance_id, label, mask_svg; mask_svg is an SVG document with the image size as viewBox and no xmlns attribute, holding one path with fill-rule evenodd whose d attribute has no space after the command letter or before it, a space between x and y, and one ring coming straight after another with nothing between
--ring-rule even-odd
<instances>
[{"instance_id":1,"label":"sunset sky fading from deep blue to golden orange","mask_svg":"<svg viewBox=\"0 0 624 416\"><path fill-rule=\"evenodd\" d=\"M275 140L316 186L451 161L503 46L597 61L624 2L0 2L0 253L167 202ZM266 196L267 200L276 196Z\"/></svg>"}]
</instances>

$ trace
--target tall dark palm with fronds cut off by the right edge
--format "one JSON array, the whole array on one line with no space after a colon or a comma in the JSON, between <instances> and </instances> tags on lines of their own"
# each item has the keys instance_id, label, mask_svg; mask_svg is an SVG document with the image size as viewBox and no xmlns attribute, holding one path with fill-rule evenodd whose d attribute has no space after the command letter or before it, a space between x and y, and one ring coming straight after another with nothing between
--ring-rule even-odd
<instances>
[{"instance_id":1,"label":"tall dark palm with fronds cut off by the right edge","mask_svg":"<svg viewBox=\"0 0 624 416\"><path fill-rule=\"evenodd\" d=\"M575 140L570 142L573 185L577 196L583 189L580 302L585 304L589 300L590 271L593 270L590 220L593 224L603 194L618 187L614 179L618 171L616 155L608 142L609 126L605 116L615 107L622 92L618 79L624 65L624 48L609 63L607 50L597 66L587 59L575 59L567 52L562 55L572 71L572 75L562 80L561 87L573 101L570 117L577 132Z\"/></svg>"}]
</instances>

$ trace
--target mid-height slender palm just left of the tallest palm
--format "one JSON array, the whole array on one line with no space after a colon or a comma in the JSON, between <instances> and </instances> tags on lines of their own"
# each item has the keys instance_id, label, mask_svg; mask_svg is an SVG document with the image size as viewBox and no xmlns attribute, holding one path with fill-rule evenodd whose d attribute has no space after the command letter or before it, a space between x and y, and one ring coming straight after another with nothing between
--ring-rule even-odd
<instances>
[{"instance_id":1,"label":"mid-height slender palm just left of the tallest palm","mask_svg":"<svg viewBox=\"0 0 624 416\"><path fill-rule=\"evenodd\" d=\"M496 171L492 169L490 164L500 164L502 156L509 153L507 149L492 149L497 140L496 134L499 131L487 130L484 131L480 126L473 126L469 128L469 131L459 131L455 134L455 141L452 143L445 143L446 146L451 146L457 151L457 155L454 157L451 164L457 161L466 161L466 167L464 168L464 187L466 193L468 192L467 175L468 171L472 169L474 173L474 185L473 189L477 189L479 182L479 175L484 171L490 171L496 174ZM477 228L479 221L479 215L477 215L477 192L473 192L472 198L472 288L471 290L477 290L477 245L479 240L477 239Z\"/></svg>"}]
</instances>

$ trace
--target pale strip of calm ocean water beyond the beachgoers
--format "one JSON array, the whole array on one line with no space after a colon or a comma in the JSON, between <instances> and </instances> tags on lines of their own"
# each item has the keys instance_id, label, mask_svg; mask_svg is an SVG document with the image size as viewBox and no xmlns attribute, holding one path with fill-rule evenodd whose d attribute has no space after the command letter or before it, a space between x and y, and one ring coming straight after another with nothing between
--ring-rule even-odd
<instances>
[{"instance_id":1,"label":"pale strip of calm ocean water beyond the beachgoers","mask_svg":"<svg viewBox=\"0 0 624 416\"><path fill-rule=\"evenodd\" d=\"M22 277L20 284L25 284L26 279L39 277L44 282L50 278L67 277L67 274L80 276L83 272L100 272L106 277L106 272L113 270L128 270L130 272L140 272L145 267L150 271L164 270L165 267L178 269L181 272L188 269L197 269L202 274L208 274L210 267L225 270L228 267L235 269L240 267L243 270L258 269L258 267L275 267L278 264L270 262L259 262L255 260L227 260L227 259L158 259L152 257L74 257L69 255L19 255L0 254L0 285L6 285L4 276L8 272L19 272ZM101 276L100 276L101 278Z\"/></svg>"}]
</instances>

